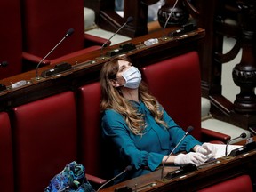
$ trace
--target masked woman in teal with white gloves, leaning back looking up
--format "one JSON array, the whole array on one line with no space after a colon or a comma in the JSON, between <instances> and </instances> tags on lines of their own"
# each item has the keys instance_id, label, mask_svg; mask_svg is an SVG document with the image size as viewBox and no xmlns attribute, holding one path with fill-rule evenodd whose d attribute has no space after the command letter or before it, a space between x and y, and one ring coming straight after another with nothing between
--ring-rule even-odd
<instances>
[{"instance_id":1,"label":"masked woman in teal with white gloves, leaning back looking up","mask_svg":"<svg viewBox=\"0 0 256 192\"><path fill-rule=\"evenodd\" d=\"M204 164L216 148L188 135L175 124L156 98L141 83L138 68L128 58L116 58L104 64L100 72L102 90L102 133L116 153L115 175L127 165L132 171L116 178L115 184L153 172L161 164ZM167 87L166 87L167 88ZM167 158L168 157L168 158Z\"/></svg>"}]
</instances>

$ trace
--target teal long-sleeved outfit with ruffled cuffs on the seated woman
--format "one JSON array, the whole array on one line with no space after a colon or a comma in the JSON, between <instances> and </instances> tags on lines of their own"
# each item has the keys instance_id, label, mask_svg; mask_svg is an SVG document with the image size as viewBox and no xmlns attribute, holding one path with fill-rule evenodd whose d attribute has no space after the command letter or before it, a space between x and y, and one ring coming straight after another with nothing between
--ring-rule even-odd
<instances>
[{"instance_id":1,"label":"teal long-sleeved outfit with ruffled cuffs on the seated woman","mask_svg":"<svg viewBox=\"0 0 256 192\"><path fill-rule=\"evenodd\" d=\"M177 125L164 110L164 122L168 128L157 124L154 117L143 102L131 100L134 108L144 115L147 124L144 134L135 135L128 128L124 117L113 109L105 110L102 116L103 137L114 144L115 148L115 175L123 172L127 165L132 165L132 171L125 172L116 179L116 182L138 177L142 174L155 171L162 163L164 156L169 155L176 144L185 135L179 125ZM174 154L180 151L190 151L196 145L202 143L193 136L188 135Z\"/></svg>"}]
</instances>

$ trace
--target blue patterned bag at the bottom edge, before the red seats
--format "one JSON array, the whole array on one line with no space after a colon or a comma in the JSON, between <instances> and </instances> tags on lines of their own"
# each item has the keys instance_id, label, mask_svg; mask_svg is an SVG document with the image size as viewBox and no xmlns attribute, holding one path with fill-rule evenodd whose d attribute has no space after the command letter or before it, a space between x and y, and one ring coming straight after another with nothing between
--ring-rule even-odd
<instances>
[{"instance_id":1,"label":"blue patterned bag at the bottom edge, before the red seats","mask_svg":"<svg viewBox=\"0 0 256 192\"><path fill-rule=\"evenodd\" d=\"M85 168L76 161L67 164L65 168L55 175L44 192L94 192L92 185L85 178Z\"/></svg>"}]
</instances>

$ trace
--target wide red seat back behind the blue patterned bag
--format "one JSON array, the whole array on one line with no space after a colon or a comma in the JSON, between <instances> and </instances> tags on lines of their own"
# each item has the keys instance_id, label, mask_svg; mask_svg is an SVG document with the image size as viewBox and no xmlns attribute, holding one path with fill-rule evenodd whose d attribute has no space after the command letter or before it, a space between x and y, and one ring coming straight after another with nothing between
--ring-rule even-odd
<instances>
[{"instance_id":1,"label":"wide red seat back behind the blue patterned bag","mask_svg":"<svg viewBox=\"0 0 256 192\"><path fill-rule=\"evenodd\" d=\"M44 191L77 156L76 102L62 92L13 109L16 191Z\"/></svg>"}]
</instances>

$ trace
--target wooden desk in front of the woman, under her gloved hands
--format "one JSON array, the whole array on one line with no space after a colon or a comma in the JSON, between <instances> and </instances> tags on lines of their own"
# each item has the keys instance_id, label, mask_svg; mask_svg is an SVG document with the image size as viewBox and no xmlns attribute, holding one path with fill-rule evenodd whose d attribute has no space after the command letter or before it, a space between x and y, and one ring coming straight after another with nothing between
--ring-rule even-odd
<instances>
[{"instance_id":1,"label":"wooden desk in front of the woman, under her gloved hands","mask_svg":"<svg viewBox=\"0 0 256 192\"><path fill-rule=\"evenodd\" d=\"M254 137L256 140L256 137ZM132 191L196 191L200 188L206 188L223 180L228 180L243 173L253 175L256 172L256 150L236 157L222 157L212 164L206 164L198 167L195 172L171 179L161 180L161 170L150 172L146 175L127 180L109 188L101 189L102 192L115 191L116 188L127 186ZM165 167L164 175L172 172L177 167ZM254 178L255 180L255 178ZM125 191L123 191L125 192Z\"/></svg>"}]
</instances>

